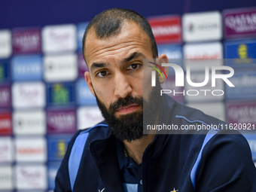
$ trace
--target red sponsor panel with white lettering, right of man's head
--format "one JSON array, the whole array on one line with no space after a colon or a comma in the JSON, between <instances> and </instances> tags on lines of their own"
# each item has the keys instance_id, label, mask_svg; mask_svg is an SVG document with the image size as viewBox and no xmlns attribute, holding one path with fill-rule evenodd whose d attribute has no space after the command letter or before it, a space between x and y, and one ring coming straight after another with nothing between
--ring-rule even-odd
<instances>
[{"instance_id":1,"label":"red sponsor panel with white lettering, right of man's head","mask_svg":"<svg viewBox=\"0 0 256 192\"><path fill-rule=\"evenodd\" d=\"M181 17L151 17L148 19L158 43L181 42Z\"/></svg>"}]
</instances>

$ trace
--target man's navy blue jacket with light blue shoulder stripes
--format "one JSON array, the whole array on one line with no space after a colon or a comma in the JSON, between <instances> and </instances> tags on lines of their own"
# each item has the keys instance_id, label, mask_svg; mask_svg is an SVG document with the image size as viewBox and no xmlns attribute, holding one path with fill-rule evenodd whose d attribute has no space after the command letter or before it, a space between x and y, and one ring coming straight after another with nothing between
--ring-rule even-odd
<instances>
[{"instance_id":1,"label":"man's navy blue jacket with light blue shoulder stripes","mask_svg":"<svg viewBox=\"0 0 256 192\"><path fill-rule=\"evenodd\" d=\"M169 96L163 103L161 123L224 124ZM256 169L247 141L240 134L222 133L157 135L142 157L143 191L255 192ZM54 191L124 192L121 176L116 140L103 121L79 130L69 142Z\"/></svg>"}]
</instances>

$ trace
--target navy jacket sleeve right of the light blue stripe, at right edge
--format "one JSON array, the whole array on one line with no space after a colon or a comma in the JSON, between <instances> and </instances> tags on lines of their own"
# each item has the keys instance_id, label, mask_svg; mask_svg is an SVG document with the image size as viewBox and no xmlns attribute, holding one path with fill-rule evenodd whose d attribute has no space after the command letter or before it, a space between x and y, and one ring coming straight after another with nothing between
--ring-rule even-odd
<instances>
[{"instance_id":1,"label":"navy jacket sleeve right of the light blue stripe, at right edge","mask_svg":"<svg viewBox=\"0 0 256 192\"><path fill-rule=\"evenodd\" d=\"M227 135L219 131L203 148L197 190L255 191L255 179L251 151L241 134Z\"/></svg>"}]
</instances>

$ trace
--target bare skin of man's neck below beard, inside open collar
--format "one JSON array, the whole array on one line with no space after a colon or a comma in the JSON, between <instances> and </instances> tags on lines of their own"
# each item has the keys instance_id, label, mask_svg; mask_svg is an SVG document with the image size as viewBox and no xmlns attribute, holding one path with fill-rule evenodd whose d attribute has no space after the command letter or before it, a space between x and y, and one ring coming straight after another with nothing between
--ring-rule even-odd
<instances>
[{"instance_id":1,"label":"bare skin of man's neck below beard, inside open collar","mask_svg":"<svg viewBox=\"0 0 256 192\"><path fill-rule=\"evenodd\" d=\"M133 158L133 160L139 165L142 163L143 153L145 148L153 142L155 134L148 134L148 136L142 139L137 139L133 142L123 141L124 148L126 149L128 155Z\"/></svg>"}]
</instances>

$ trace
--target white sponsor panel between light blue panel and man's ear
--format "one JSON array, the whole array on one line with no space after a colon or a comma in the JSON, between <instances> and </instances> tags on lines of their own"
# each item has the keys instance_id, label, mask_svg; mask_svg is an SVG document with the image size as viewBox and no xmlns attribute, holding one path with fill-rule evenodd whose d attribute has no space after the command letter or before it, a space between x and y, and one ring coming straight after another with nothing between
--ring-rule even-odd
<instances>
[{"instance_id":1,"label":"white sponsor panel between light blue panel and man's ear","mask_svg":"<svg viewBox=\"0 0 256 192\"><path fill-rule=\"evenodd\" d=\"M44 80L74 81L78 77L78 58L76 54L44 57Z\"/></svg>"}]
</instances>

